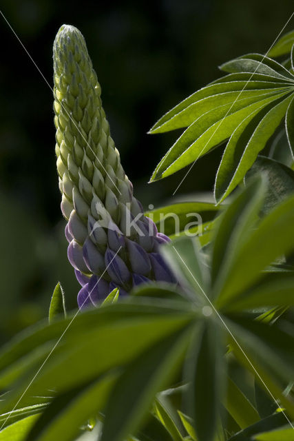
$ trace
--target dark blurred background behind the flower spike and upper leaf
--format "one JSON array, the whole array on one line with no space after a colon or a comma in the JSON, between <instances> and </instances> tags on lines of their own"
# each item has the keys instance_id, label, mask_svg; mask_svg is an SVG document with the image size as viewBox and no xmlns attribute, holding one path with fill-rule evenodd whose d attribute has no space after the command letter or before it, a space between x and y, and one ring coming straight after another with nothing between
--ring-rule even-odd
<instances>
[{"instance_id":1,"label":"dark blurred background behind the flower spike and upper leaf","mask_svg":"<svg viewBox=\"0 0 294 441\"><path fill-rule=\"evenodd\" d=\"M171 198L186 170L147 184L178 133L147 135L170 107L220 76L217 66L264 53L291 0L1 1L1 11L52 86L52 43L63 23L81 30L112 136L145 208ZM289 23L286 31L293 28ZM75 307L57 186L52 92L0 17L0 340L47 314L58 280ZM222 149L202 158L177 197L211 192Z\"/></svg>"}]
</instances>

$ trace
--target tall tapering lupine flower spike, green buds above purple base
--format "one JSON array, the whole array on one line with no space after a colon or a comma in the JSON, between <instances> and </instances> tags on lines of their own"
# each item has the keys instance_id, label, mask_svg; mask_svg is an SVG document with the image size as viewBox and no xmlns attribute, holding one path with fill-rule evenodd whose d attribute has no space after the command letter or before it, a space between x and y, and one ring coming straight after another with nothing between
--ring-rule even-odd
<instances>
[{"instance_id":1,"label":"tall tapering lupine flower spike, green buds above purple base","mask_svg":"<svg viewBox=\"0 0 294 441\"><path fill-rule=\"evenodd\" d=\"M78 306L149 280L174 283L157 232L133 195L110 136L85 39L63 25L54 41L54 123L67 255L81 284Z\"/></svg>"}]
</instances>

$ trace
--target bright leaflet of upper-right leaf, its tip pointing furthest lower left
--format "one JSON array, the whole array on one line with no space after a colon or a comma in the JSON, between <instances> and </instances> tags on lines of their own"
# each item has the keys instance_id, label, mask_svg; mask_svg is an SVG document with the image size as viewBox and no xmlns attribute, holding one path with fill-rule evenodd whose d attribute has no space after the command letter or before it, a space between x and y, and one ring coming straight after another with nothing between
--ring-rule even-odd
<instances>
[{"instance_id":1,"label":"bright leaflet of upper-right leaf, its tip pointing furthest lower left","mask_svg":"<svg viewBox=\"0 0 294 441\"><path fill-rule=\"evenodd\" d=\"M275 99L284 96L286 92L287 90L268 94L263 99L247 105L244 101L236 101L233 107L231 105L213 107L192 123L174 143L156 167L151 181L165 178L196 161L211 148L229 138L246 116L255 110L262 110Z\"/></svg>"}]
</instances>

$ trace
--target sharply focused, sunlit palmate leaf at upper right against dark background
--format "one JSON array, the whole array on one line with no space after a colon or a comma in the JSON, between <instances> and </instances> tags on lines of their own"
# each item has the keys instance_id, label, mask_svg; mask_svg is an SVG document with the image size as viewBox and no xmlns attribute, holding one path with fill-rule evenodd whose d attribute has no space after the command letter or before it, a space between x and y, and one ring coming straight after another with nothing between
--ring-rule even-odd
<instances>
[{"instance_id":1,"label":"sharply focused, sunlit palmate leaf at upper right against dark background","mask_svg":"<svg viewBox=\"0 0 294 441\"><path fill-rule=\"evenodd\" d=\"M221 69L231 73L189 96L150 130L189 126L162 158L151 181L177 172L229 139L216 178L218 203L242 181L286 113L289 143L293 137L294 76L289 70L260 54L246 54Z\"/></svg>"}]
</instances>

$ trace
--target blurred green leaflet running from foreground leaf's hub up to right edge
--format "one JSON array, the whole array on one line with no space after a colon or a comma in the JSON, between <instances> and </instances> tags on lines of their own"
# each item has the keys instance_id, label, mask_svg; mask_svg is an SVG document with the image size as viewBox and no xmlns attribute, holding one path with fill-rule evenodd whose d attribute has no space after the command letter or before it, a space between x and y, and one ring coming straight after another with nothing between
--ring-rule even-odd
<instances>
[{"instance_id":1,"label":"blurred green leaflet running from foreground leaf's hub up to right edge","mask_svg":"<svg viewBox=\"0 0 294 441\"><path fill-rule=\"evenodd\" d=\"M221 291L216 305L224 307L260 279L262 269L293 248L294 197L291 196L265 216L250 238L238 248L230 268L216 281L215 289Z\"/></svg>"}]
</instances>

